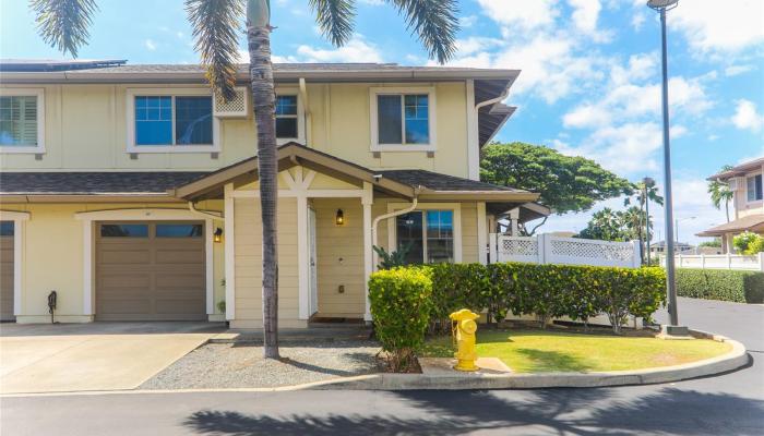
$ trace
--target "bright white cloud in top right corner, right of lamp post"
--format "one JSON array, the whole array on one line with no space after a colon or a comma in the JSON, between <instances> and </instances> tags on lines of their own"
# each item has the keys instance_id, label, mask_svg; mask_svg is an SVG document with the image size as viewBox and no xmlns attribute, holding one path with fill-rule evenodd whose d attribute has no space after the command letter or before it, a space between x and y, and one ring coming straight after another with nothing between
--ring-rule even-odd
<instances>
[{"instance_id":1,"label":"bright white cloud in top right corner, right of lamp post","mask_svg":"<svg viewBox=\"0 0 764 436\"><path fill-rule=\"evenodd\" d=\"M737 51L764 41L761 0L693 0L669 12L669 25L702 52Z\"/></svg>"}]
</instances>

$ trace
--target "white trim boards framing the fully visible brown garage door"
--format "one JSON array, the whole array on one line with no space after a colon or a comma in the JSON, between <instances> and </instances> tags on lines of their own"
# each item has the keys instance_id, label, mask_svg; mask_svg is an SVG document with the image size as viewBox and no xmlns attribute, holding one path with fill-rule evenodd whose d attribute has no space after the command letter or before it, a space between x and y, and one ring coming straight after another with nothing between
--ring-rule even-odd
<instances>
[{"instance_id":1,"label":"white trim boards framing the fully visible brown garage door","mask_svg":"<svg viewBox=\"0 0 764 436\"><path fill-rule=\"evenodd\" d=\"M189 209L162 209L162 208L145 208L145 209L110 209L110 210L93 210L81 211L74 214L74 219L82 221L82 241L83 241L83 313L86 316L95 315L95 221L204 221L204 271L205 271L205 308L207 315L215 314L215 265L213 255L213 219L202 218L198 214ZM226 283L227 284L227 283ZM227 307L226 307L227 308Z\"/></svg>"}]
</instances>

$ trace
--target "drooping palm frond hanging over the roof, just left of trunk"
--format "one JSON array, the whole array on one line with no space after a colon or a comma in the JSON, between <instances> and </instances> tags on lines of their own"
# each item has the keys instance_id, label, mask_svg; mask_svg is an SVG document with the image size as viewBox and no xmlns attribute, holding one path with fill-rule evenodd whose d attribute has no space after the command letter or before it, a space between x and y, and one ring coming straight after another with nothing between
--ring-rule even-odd
<instances>
[{"instance_id":1,"label":"drooping palm frond hanging over the roof, just left of trunk","mask_svg":"<svg viewBox=\"0 0 764 436\"><path fill-rule=\"evenodd\" d=\"M186 0L186 12L207 81L224 100L234 98L242 0Z\"/></svg>"}]
</instances>

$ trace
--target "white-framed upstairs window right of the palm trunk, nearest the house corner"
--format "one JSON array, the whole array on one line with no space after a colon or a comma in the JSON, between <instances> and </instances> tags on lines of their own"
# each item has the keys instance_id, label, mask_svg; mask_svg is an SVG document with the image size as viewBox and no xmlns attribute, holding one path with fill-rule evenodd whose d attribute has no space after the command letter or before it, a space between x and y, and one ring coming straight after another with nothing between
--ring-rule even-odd
<instances>
[{"instance_id":1,"label":"white-framed upstairs window right of the palm trunk, nearest the house corner","mask_svg":"<svg viewBox=\"0 0 764 436\"><path fill-rule=\"evenodd\" d=\"M431 89L372 88L371 97L372 150L434 149L434 93Z\"/></svg>"}]
</instances>

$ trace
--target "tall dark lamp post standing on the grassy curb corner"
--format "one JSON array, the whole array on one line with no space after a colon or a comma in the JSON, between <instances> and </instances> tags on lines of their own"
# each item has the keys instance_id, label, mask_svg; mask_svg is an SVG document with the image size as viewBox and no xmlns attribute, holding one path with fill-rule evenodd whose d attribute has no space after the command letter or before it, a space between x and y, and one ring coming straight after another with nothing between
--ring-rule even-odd
<instances>
[{"instance_id":1,"label":"tall dark lamp post standing on the grassy curb corner","mask_svg":"<svg viewBox=\"0 0 764 436\"><path fill-rule=\"evenodd\" d=\"M687 336L687 327L679 326L679 313L677 311L677 283L675 281L673 266L673 205L671 201L671 145L669 141L669 107L668 107L668 55L666 47L666 11L677 7L679 0L648 0L647 5L660 13L660 35L662 47L662 107L664 107L664 184L666 192L665 226L666 226L666 291L669 303L669 325L664 326L662 332L668 336Z\"/></svg>"}]
</instances>

